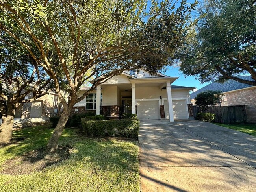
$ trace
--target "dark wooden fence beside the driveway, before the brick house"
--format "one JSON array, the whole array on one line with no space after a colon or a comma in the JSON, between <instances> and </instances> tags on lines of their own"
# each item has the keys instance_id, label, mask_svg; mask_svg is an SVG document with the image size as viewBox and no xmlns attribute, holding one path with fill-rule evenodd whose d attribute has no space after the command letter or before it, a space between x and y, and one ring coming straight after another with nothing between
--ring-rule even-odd
<instances>
[{"instance_id":1,"label":"dark wooden fence beside the driveway, before the brick house","mask_svg":"<svg viewBox=\"0 0 256 192\"><path fill-rule=\"evenodd\" d=\"M193 106L194 118L197 113L200 113L199 107ZM247 115L245 105L235 106L214 106L209 107L205 113L214 113L215 122L217 123L236 123L236 122L247 122Z\"/></svg>"}]
</instances>

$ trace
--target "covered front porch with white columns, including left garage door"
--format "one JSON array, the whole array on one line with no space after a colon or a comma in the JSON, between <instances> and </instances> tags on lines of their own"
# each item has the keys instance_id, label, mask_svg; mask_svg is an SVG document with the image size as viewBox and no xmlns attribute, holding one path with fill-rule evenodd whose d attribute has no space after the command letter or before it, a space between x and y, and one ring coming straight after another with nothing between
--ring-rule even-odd
<instances>
[{"instance_id":1,"label":"covered front porch with white columns, including left garage door","mask_svg":"<svg viewBox=\"0 0 256 192\"><path fill-rule=\"evenodd\" d=\"M143 120L169 119L173 122L170 81L163 81L164 79L154 79L154 81L145 79L144 82L141 81L144 79L134 80L137 79L130 79L131 83L98 85L96 114L102 114L107 119L118 119L122 118L124 113L133 113Z\"/></svg>"}]
</instances>

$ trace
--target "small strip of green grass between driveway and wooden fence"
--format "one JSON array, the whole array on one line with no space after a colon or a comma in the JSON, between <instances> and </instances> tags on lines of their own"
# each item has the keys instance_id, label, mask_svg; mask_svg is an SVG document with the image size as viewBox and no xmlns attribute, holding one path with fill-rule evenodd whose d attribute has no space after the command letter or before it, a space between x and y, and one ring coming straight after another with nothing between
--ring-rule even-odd
<instances>
[{"instance_id":1,"label":"small strip of green grass between driveway and wooden fence","mask_svg":"<svg viewBox=\"0 0 256 192\"><path fill-rule=\"evenodd\" d=\"M234 123L234 124L214 123L214 124L222 127L226 127L229 129L234 129L236 131L240 131L243 133L247 133L249 135L253 135L256 137L256 124L245 124L245 123Z\"/></svg>"}]
</instances>

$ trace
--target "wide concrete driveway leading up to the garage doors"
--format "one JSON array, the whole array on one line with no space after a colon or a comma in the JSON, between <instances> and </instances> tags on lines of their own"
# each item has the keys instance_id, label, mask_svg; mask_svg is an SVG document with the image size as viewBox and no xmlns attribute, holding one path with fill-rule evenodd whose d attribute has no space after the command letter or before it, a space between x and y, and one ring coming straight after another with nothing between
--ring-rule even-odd
<instances>
[{"instance_id":1,"label":"wide concrete driveway leading up to the garage doors","mask_svg":"<svg viewBox=\"0 0 256 192\"><path fill-rule=\"evenodd\" d=\"M141 121L141 189L256 191L256 137L197 120Z\"/></svg>"}]
</instances>

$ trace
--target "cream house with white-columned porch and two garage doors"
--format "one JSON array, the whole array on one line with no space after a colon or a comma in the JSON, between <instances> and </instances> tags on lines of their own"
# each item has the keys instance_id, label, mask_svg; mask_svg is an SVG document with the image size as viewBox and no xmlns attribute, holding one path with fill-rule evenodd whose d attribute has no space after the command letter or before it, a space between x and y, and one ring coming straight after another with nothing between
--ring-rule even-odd
<instances>
[{"instance_id":1,"label":"cream house with white-columned porch and two garage doors","mask_svg":"<svg viewBox=\"0 0 256 192\"><path fill-rule=\"evenodd\" d=\"M176 79L161 73L150 75L145 68L124 71L98 85L74 105L72 113L91 111L109 118L137 113L140 120L189 119L193 116L189 91L194 87L171 85ZM82 88L79 96L88 89Z\"/></svg>"}]
</instances>

